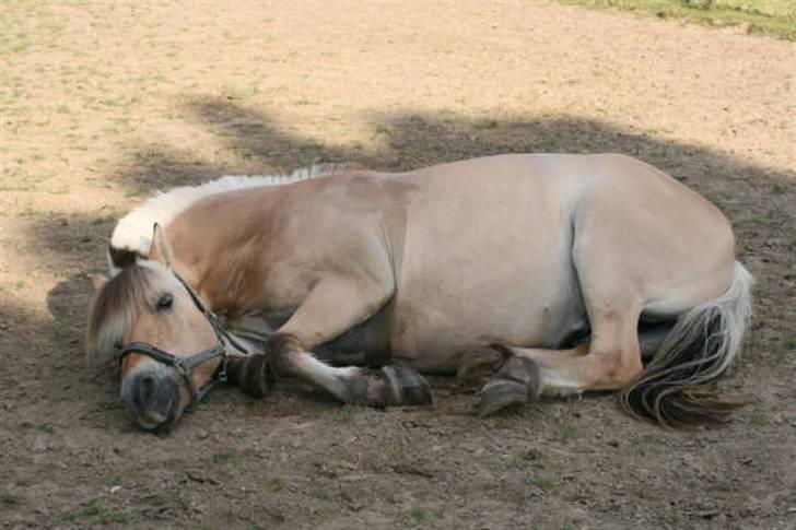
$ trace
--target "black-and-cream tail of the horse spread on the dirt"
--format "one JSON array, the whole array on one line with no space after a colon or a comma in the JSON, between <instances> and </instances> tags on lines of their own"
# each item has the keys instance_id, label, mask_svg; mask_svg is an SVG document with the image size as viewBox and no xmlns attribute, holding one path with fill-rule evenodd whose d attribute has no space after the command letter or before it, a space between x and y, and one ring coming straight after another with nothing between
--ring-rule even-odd
<instances>
[{"instance_id":1,"label":"black-and-cream tail of the horse spread on the dirt","mask_svg":"<svg viewBox=\"0 0 796 530\"><path fill-rule=\"evenodd\" d=\"M719 399L706 384L740 352L753 283L736 261L733 283L723 295L680 315L644 372L622 390L624 409L663 425L687 427L724 423L741 407Z\"/></svg>"}]
</instances>

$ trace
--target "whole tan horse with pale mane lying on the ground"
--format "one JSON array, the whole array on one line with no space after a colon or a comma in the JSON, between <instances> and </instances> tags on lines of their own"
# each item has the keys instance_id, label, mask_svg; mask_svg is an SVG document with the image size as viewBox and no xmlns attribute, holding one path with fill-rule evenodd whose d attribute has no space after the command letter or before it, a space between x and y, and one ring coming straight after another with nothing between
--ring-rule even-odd
<instances>
[{"instance_id":1,"label":"whole tan horse with pale mane lying on the ground","mask_svg":"<svg viewBox=\"0 0 796 530\"><path fill-rule=\"evenodd\" d=\"M255 394L286 374L346 403L425 403L419 373L487 348L482 414L622 389L662 424L725 416L705 388L738 354L752 278L682 184L616 154L331 173L177 188L118 223L86 349L121 353L141 427L169 428L227 373Z\"/></svg>"}]
</instances>

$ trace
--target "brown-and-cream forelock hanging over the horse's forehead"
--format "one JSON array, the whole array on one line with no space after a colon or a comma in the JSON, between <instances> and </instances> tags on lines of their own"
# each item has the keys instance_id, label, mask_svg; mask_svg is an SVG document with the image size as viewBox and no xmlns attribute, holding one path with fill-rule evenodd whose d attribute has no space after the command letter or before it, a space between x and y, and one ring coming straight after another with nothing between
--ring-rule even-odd
<instances>
[{"instance_id":1,"label":"brown-and-cream forelock hanging over the horse's forehead","mask_svg":"<svg viewBox=\"0 0 796 530\"><path fill-rule=\"evenodd\" d=\"M89 364L113 355L125 331L148 306L154 292L152 272L140 264L126 267L96 293L85 335Z\"/></svg>"}]
</instances>

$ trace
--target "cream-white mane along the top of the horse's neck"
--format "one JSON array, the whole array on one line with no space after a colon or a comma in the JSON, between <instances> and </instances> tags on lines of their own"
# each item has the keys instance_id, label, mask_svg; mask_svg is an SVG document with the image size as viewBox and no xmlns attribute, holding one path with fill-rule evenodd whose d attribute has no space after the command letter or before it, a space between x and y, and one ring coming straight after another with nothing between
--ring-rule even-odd
<instances>
[{"instance_id":1,"label":"cream-white mane along the top of the horse's neck","mask_svg":"<svg viewBox=\"0 0 796 530\"><path fill-rule=\"evenodd\" d=\"M114 250L121 250L138 256L149 256L154 224L167 226L177 215L206 197L239 189L281 186L344 173L352 168L354 168L352 164L316 164L296 169L290 175L227 175L199 186L180 186L157 192L119 220L110 237L110 254ZM109 266L112 274L119 272L113 260L109 260Z\"/></svg>"}]
</instances>

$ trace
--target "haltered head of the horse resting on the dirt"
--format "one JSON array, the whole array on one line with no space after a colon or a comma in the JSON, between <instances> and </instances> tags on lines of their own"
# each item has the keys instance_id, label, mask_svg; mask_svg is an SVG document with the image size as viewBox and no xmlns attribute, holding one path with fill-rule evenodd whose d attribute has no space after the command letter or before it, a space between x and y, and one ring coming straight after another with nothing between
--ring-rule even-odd
<instances>
[{"instance_id":1,"label":"haltered head of the horse resting on the dirt","mask_svg":"<svg viewBox=\"0 0 796 530\"><path fill-rule=\"evenodd\" d=\"M89 361L119 358L125 409L147 431L171 428L226 357L223 330L171 262L155 227L149 260L95 279L89 315Z\"/></svg>"}]
</instances>

